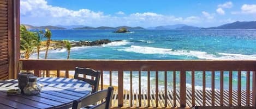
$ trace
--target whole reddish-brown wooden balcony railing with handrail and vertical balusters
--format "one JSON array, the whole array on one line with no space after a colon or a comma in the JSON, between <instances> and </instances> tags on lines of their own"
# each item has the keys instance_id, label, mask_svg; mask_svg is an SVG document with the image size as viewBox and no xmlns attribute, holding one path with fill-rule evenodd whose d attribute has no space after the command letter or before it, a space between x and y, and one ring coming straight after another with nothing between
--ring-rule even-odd
<instances>
[{"instance_id":1,"label":"whole reddish-brown wooden balcony railing with handrail and vertical balusters","mask_svg":"<svg viewBox=\"0 0 256 109\"><path fill-rule=\"evenodd\" d=\"M104 87L104 72L109 72L109 84L112 86L117 72L118 89L115 92L112 108L175 108L193 106L255 106L256 104L256 61L209 61L209 60L20 60L20 69L32 70L36 75L42 76L46 71L47 77L55 71L57 77L62 71L69 78L70 70L76 66L88 67L102 72L100 89ZM124 72L129 72L129 83L124 84ZM201 72L203 88L195 88L195 73ZM246 75L242 75L242 73ZM141 80L142 73L147 81ZM186 76L187 74L191 76ZM206 73L211 73L210 88L206 87ZM217 75L217 73L219 75ZM224 75L228 73L228 75ZM155 81L152 82L151 75ZM163 74L163 88L159 88L160 75ZM234 74L237 74L234 76ZM138 75L138 90L133 87L133 77ZM173 77L170 79L170 75ZM252 75L252 78L251 78ZM126 75L127 76L127 75ZM216 82L219 76L219 82ZM224 79L228 76L228 88L224 88ZM246 76L246 80L241 78ZM162 78L161 78L162 79ZM237 84L234 85L234 79ZM186 87L186 81L191 87ZM126 80L127 81L127 80ZM246 88L242 87L246 81ZM147 83L146 89L141 84ZM170 84L172 83L172 84ZM216 89L216 83L219 84ZM252 83L252 84L250 84ZM152 87L155 86L155 87ZM236 86L237 88L234 88ZM125 88L124 88L125 87ZM129 87L127 90L126 87ZM115 105L117 100L117 105Z\"/></svg>"}]
</instances>

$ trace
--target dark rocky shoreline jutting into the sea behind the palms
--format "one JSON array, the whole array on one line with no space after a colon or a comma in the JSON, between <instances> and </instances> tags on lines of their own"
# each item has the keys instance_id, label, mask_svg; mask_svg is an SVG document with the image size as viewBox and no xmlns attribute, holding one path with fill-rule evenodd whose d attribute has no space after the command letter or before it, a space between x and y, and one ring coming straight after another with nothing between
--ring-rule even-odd
<instances>
[{"instance_id":1,"label":"dark rocky shoreline jutting into the sea behind the palms","mask_svg":"<svg viewBox=\"0 0 256 109\"><path fill-rule=\"evenodd\" d=\"M118 41L122 41L122 40L108 40L108 39L103 39L103 40L96 40L96 41L70 41L70 43L72 44L72 47L84 47L84 46L101 46L103 44L108 44L111 42L118 42ZM46 41L41 42L41 48L40 48L40 52L45 51L46 50ZM57 49L63 49L66 48L66 41L64 40L51 40L51 44L49 47L49 50L57 50ZM72 49L72 48L71 48ZM24 51L21 50L21 58L23 58L24 56ZM34 49L33 53L37 53L36 48Z\"/></svg>"}]
</instances>

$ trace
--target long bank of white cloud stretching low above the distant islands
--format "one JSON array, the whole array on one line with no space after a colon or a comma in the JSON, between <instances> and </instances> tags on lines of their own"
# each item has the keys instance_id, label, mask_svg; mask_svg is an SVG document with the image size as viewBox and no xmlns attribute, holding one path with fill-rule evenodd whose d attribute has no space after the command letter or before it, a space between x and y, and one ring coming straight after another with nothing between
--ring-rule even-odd
<instances>
[{"instance_id":1,"label":"long bank of white cloud stretching low above the distant islands","mask_svg":"<svg viewBox=\"0 0 256 109\"><path fill-rule=\"evenodd\" d=\"M116 14L122 16L115 16ZM211 21L214 14L206 11L203 16L176 17L154 12L135 12L125 14L122 11L114 15L106 15L101 11L89 9L70 10L49 5L46 0L21 0L21 23L32 25L87 25L92 27L120 25L151 27L156 25L186 23L205 25L204 21ZM200 25L201 24L201 25Z\"/></svg>"}]
</instances>

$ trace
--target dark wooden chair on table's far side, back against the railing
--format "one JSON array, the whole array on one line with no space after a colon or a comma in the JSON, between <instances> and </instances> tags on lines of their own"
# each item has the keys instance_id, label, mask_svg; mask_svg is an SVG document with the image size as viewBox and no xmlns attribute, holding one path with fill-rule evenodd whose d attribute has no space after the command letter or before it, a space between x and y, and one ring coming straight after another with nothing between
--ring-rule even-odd
<instances>
[{"instance_id":1,"label":"dark wooden chair on table's far side, back against the railing","mask_svg":"<svg viewBox=\"0 0 256 109\"><path fill-rule=\"evenodd\" d=\"M95 78L95 80L87 79L87 78L81 78L81 77L78 76L79 74L92 76L93 78ZM90 68L75 67L74 79L82 80L82 81L85 81L88 84L92 85L92 93L98 91L99 78L100 78L100 72L98 72L96 70L93 70L93 69L90 69Z\"/></svg>"}]
</instances>

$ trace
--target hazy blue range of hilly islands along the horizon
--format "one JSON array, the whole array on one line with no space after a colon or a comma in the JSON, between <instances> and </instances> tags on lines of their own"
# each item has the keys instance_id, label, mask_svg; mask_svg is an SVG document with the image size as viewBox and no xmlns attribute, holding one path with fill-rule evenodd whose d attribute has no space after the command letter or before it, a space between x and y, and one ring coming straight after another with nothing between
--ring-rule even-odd
<instances>
[{"instance_id":1,"label":"hazy blue range of hilly islands along the horizon","mask_svg":"<svg viewBox=\"0 0 256 109\"><path fill-rule=\"evenodd\" d=\"M195 27L192 25L186 24L175 24L175 25L160 25L157 27L128 27L128 26L120 26L120 27L88 27L84 25L46 25L46 26L33 26L28 24L23 24L27 29L51 29L51 30L63 30L63 29L75 29L75 30L119 30L122 28L126 28L127 30L199 30L199 29L256 29L256 21L249 21L249 22L240 22L236 21L233 23L223 24L218 27Z\"/></svg>"}]
</instances>

